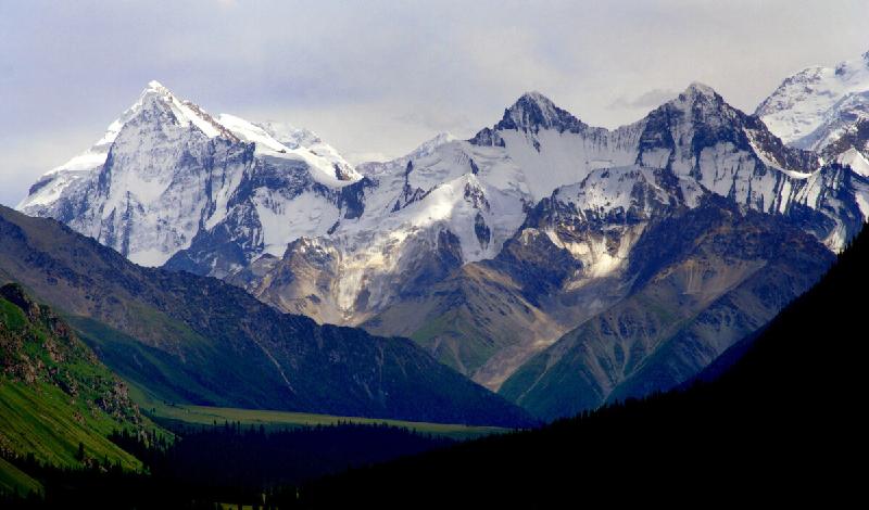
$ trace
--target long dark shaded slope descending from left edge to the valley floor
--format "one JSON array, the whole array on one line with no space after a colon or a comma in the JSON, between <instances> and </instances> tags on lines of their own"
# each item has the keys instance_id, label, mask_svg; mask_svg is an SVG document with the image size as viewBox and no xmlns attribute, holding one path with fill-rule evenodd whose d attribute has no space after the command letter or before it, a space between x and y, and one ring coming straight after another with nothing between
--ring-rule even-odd
<instances>
[{"instance_id":1,"label":"long dark shaded slope descending from left edge to the valley floor","mask_svg":"<svg viewBox=\"0 0 869 510\"><path fill-rule=\"evenodd\" d=\"M70 316L105 362L169 400L527 424L412 342L282 315L211 278L136 266L53 220L0 208L0 268Z\"/></svg>"}]
</instances>

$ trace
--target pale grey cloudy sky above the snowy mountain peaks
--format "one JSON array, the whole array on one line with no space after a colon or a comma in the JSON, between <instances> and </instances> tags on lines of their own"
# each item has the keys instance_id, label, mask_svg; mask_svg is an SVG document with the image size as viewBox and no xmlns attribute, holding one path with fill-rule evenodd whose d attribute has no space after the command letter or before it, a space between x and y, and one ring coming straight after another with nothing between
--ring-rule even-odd
<instances>
[{"instance_id":1,"label":"pale grey cloudy sky above the snowy mountain peaks","mask_svg":"<svg viewBox=\"0 0 869 510\"><path fill-rule=\"evenodd\" d=\"M152 79L356 163L469 138L530 90L610 128L695 80L752 112L788 75L869 50L866 20L866 0L0 0L0 204Z\"/></svg>"}]
</instances>

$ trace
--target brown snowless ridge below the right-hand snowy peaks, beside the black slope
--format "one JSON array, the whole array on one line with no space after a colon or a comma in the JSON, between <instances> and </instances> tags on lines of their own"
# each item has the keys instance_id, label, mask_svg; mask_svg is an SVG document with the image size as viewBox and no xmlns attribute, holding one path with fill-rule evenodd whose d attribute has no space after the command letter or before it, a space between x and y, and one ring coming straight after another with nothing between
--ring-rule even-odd
<instances>
[{"instance_id":1,"label":"brown snowless ridge below the right-hand snowy peaks, beside the black slope","mask_svg":"<svg viewBox=\"0 0 869 510\"><path fill-rule=\"evenodd\" d=\"M501 394L540 418L673 387L769 321L833 255L783 218L723 200L653 222L624 301L531 358Z\"/></svg>"}]
</instances>

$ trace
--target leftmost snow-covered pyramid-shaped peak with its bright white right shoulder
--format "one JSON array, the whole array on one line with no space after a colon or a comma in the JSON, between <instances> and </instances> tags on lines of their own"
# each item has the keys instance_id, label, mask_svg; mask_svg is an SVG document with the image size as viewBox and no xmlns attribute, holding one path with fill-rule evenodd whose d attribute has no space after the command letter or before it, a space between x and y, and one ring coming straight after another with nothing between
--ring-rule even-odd
<instances>
[{"instance_id":1,"label":"leftmost snow-covered pyramid-shaped peak with its bright white right shoulder","mask_svg":"<svg viewBox=\"0 0 869 510\"><path fill-rule=\"evenodd\" d=\"M362 176L311 131L297 129L288 146L273 128L228 114L215 118L152 80L95 145L46 174L17 207L55 217L149 266L189 246L203 218L211 228L239 214L230 199L244 179L259 179L245 188L253 205L243 207L249 216L256 208L261 227L285 211L293 216L272 221L276 228L248 228L252 245L280 244L281 228L319 213L325 231L337 219L339 190ZM268 188L290 184L292 191ZM288 205L295 196L301 202Z\"/></svg>"}]
</instances>

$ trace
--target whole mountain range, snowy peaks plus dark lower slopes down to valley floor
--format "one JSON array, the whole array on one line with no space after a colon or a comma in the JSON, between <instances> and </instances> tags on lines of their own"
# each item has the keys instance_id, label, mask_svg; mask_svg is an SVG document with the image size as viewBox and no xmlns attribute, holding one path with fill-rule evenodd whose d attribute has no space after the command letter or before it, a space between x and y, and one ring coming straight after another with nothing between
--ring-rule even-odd
<instances>
[{"instance_id":1,"label":"whole mountain range, snowy peaks plus dark lower slopes down to valley floor","mask_svg":"<svg viewBox=\"0 0 869 510\"><path fill-rule=\"evenodd\" d=\"M354 167L152 81L0 211L0 275L169 400L552 420L691 380L824 273L869 217L867 98L869 53L615 130L528 92Z\"/></svg>"}]
</instances>

